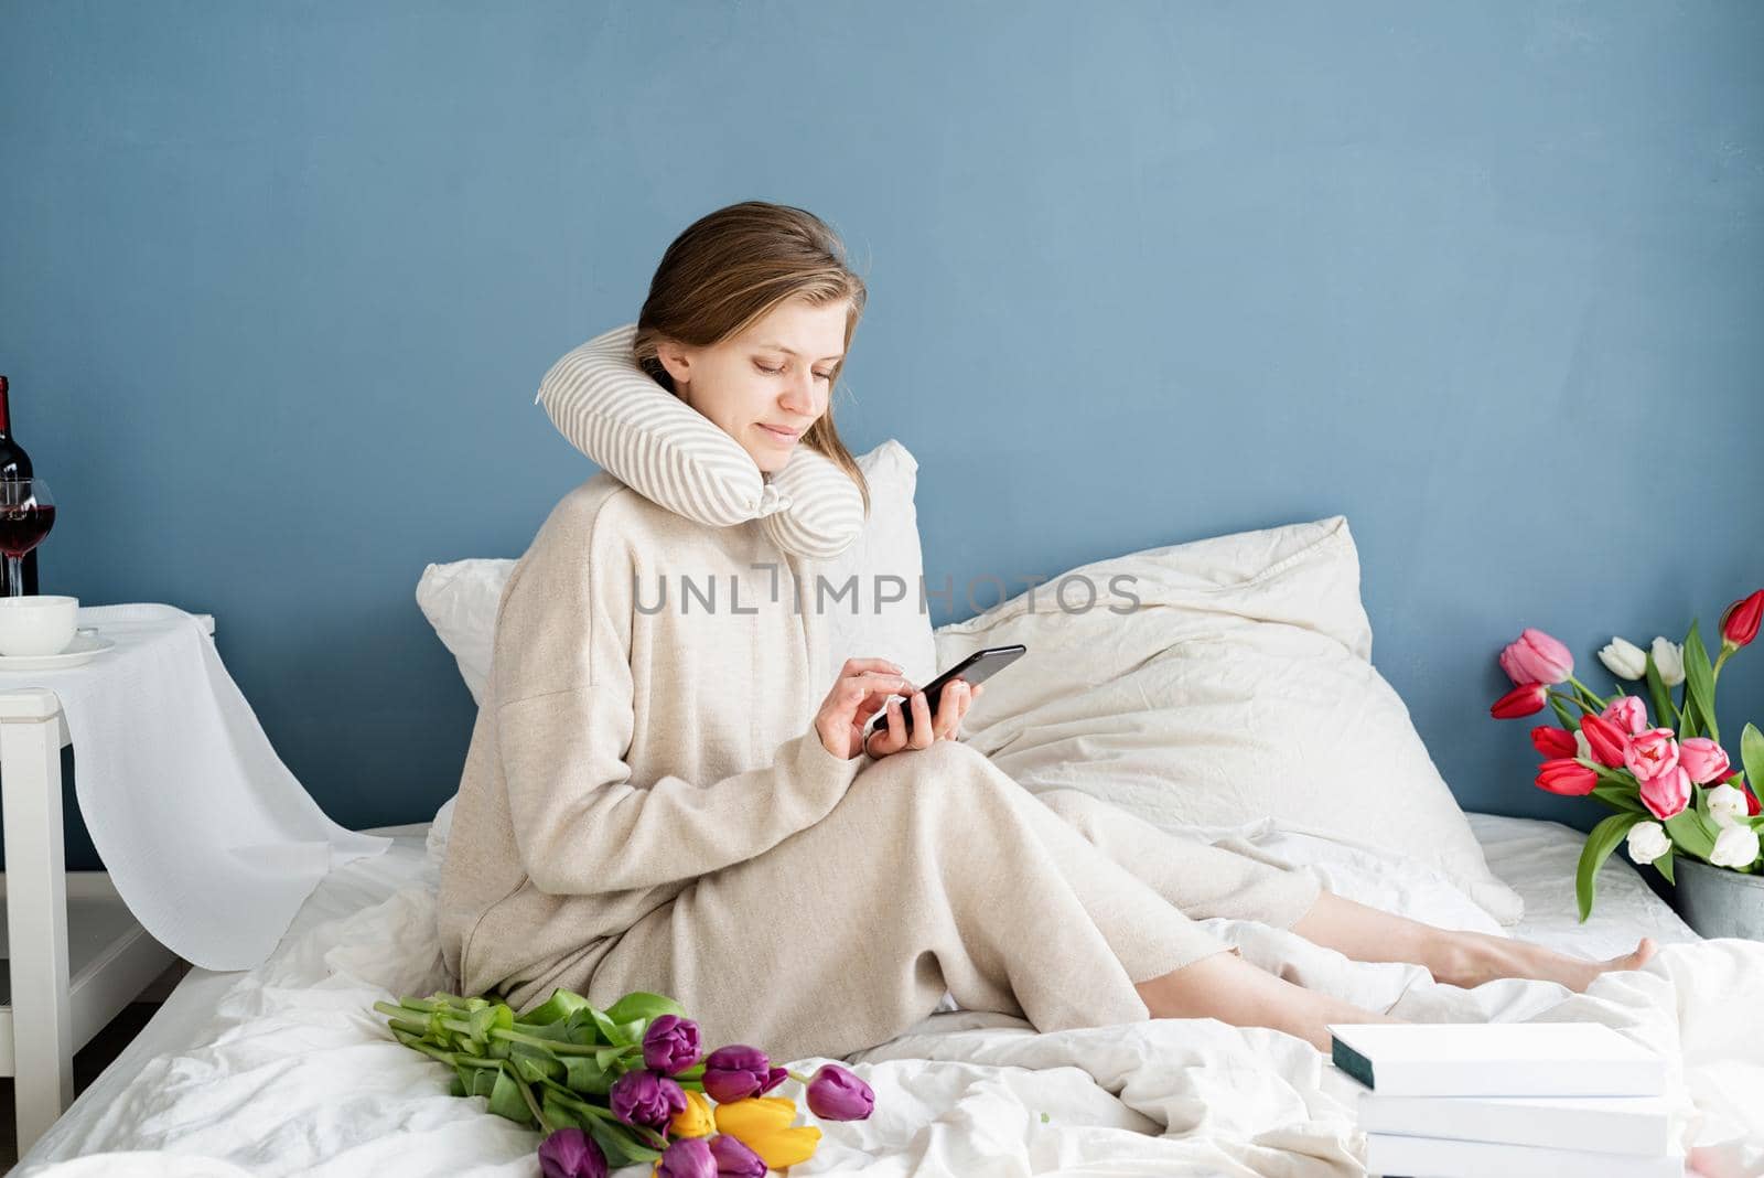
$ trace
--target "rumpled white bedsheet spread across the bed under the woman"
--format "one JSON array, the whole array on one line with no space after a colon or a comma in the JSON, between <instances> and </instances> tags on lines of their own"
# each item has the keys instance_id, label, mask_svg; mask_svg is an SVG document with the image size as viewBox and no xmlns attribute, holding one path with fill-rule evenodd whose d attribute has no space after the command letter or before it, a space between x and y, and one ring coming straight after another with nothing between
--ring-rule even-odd
<instances>
[{"instance_id":1,"label":"rumpled white bedsheet spread across the bed under the woman","mask_svg":"<svg viewBox=\"0 0 1764 1178\"><path fill-rule=\"evenodd\" d=\"M1581 926L1579 834L1485 815L1471 824L1491 868L1526 898L1512 933L1584 956L1628 951L1646 933L1660 954L1586 995L1517 980L1466 991L1263 926L1208 924L1251 959L1399 1016L1618 1026L1674 1062L1697 1171L1764 1173L1764 943L1699 942L1621 857ZM446 984L434 871L422 827L411 831L385 855L333 871L265 965L192 972L14 1173L538 1173L536 1134L446 1095L450 1072L392 1040L370 1010L376 998ZM1256 838L1272 854L1304 854L1344 894L1443 924L1487 921L1427 873L1364 850L1267 825ZM856 1070L877 1113L824 1123L820 1150L794 1174L1364 1174L1346 1081L1277 1032L1159 1019L1039 1035L1020 1019L958 1010L873 1048ZM794 1081L780 1093L801 1099Z\"/></svg>"}]
</instances>

